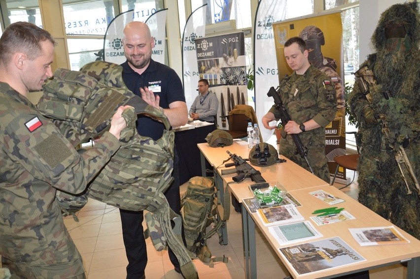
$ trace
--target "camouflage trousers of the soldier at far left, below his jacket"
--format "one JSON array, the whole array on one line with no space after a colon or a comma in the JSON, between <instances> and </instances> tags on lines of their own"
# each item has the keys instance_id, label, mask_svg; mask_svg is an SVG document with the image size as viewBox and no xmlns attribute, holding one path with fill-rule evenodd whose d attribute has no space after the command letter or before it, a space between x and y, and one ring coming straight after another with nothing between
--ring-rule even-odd
<instances>
[{"instance_id":1,"label":"camouflage trousers of the soldier at far left, below his jacket","mask_svg":"<svg viewBox=\"0 0 420 279\"><path fill-rule=\"evenodd\" d=\"M1 257L1 264L10 270L10 279L86 279L82 259L58 265L36 265L37 262L12 262Z\"/></svg>"}]
</instances>

